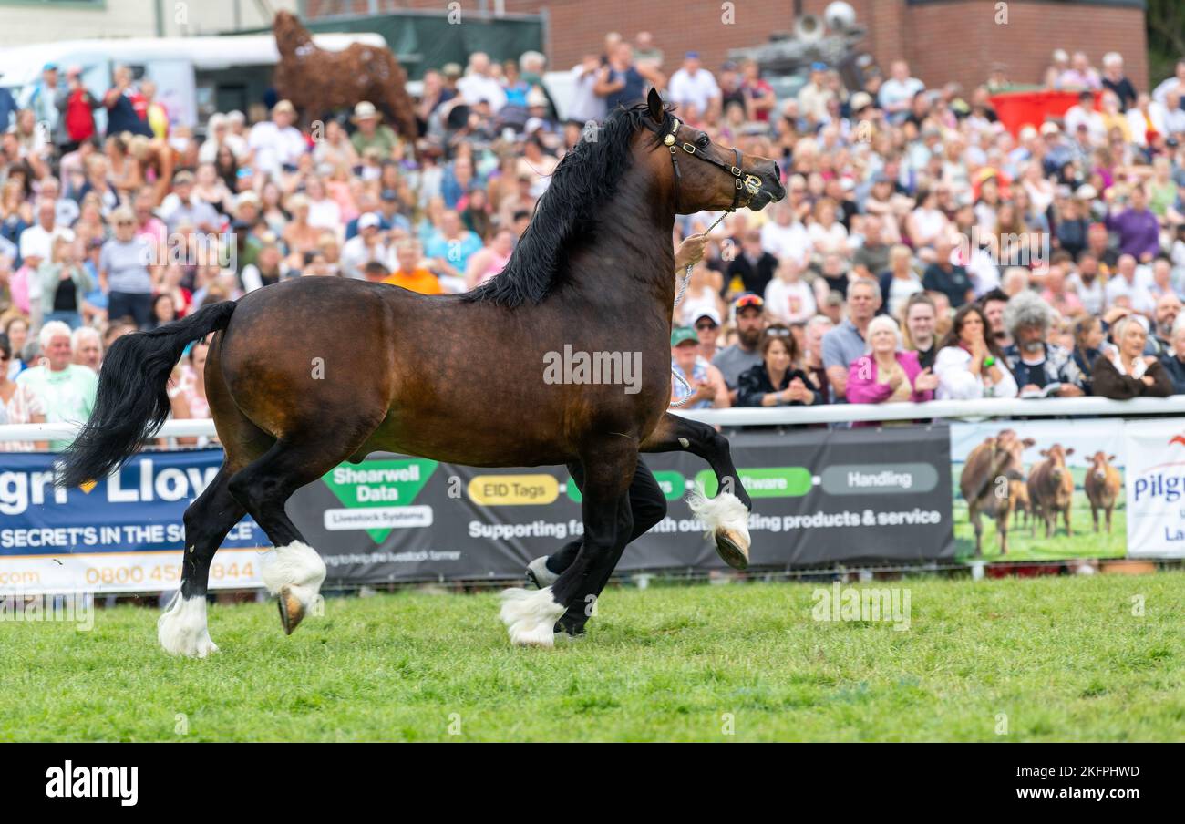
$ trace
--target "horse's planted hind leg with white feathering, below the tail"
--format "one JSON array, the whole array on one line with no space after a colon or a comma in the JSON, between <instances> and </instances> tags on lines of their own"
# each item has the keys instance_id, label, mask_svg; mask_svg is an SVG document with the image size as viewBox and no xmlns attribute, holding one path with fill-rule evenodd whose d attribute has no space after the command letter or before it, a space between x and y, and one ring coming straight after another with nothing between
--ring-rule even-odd
<instances>
[{"instance_id":1,"label":"horse's planted hind leg with white feathering, below the tail","mask_svg":"<svg viewBox=\"0 0 1185 824\"><path fill-rule=\"evenodd\" d=\"M210 562L231 526L246 511L226 490L230 472L224 465L213 483L185 510L185 555L181 586L156 621L156 638L174 656L205 658L218 647L206 628L206 585Z\"/></svg>"}]
</instances>

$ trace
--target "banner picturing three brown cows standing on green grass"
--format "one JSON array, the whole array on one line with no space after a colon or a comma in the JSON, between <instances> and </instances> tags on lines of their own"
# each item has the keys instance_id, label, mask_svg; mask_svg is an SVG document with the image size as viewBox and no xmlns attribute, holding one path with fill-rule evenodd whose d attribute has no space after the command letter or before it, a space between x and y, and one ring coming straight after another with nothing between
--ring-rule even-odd
<instances>
[{"instance_id":1,"label":"banner picturing three brown cows standing on green grass","mask_svg":"<svg viewBox=\"0 0 1185 824\"><path fill-rule=\"evenodd\" d=\"M1123 429L1119 419L953 423L959 560L975 556L976 519L989 561L1123 557Z\"/></svg>"}]
</instances>

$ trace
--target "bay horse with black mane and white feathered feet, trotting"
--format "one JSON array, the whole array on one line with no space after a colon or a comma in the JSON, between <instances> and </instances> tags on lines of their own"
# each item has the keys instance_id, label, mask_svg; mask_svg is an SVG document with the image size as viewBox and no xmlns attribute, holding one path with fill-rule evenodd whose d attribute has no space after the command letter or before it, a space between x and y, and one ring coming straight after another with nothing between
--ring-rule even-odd
<instances>
[{"instance_id":1,"label":"bay horse with black mane and white feathered feet, trotting","mask_svg":"<svg viewBox=\"0 0 1185 824\"><path fill-rule=\"evenodd\" d=\"M504 593L501 607L513 644L551 646L562 619L583 626L630 537L627 491L640 452L704 458L720 491L693 509L722 555L748 556L751 502L728 440L667 411L671 238L677 211L757 210L784 193L773 160L715 145L652 91L564 157L506 268L473 292L299 277L121 337L56 481L76 486L122 466L167 417L168 376L184 347L214 333L205 385L225 459L185 512L181 586L158 622L166 651L217 650L206 628L210 563L248 512L274 544L263 581L292 633L326 568L284 502L378 451L479 467L578 464L578 555L551 586ZM545 364L565 346L636 356L640 379L546 381Z\"/></svg>"}]
</instances>

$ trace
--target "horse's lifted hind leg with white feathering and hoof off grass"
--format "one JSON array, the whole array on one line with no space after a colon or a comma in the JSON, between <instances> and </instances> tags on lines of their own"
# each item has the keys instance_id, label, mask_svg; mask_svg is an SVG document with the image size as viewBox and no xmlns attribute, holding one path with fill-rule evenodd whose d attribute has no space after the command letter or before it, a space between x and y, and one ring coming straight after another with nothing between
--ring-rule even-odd
<instances>
[{"instance_id":1,"label":"horse's lifted hind leg with white feathering and hoof off grass","mask_svg":"<svg viewBox=\"0 0 1185 824\"><path fill-rule=\"evenodd\" d=\"M268 534L275 547L263 560L263 582L278 599L284 632L308 614L325 581L325 562L284 512L293 492L324 475L357 449L325 433L277 440L230 480L230 493Z\"/></svg>"}]
</instances>

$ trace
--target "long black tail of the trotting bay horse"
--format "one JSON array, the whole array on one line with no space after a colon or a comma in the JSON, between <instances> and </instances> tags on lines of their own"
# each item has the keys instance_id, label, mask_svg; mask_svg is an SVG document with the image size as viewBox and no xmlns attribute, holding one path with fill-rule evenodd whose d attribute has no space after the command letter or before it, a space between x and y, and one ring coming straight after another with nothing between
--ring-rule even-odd
<instances>
[{"instance_id":1,"label":"long black tail of the trotting bay horse","mask_svg":"<svg viewBox=\"0 0 1185 824\"><path fill-rule=\"evenodd\" d=\"M168 376L192 341L226 327L233 301L222 301L148 332L117 338L103 358L95 410L58 460L58 486L105 478L156 434L168 417Z\"/></svg>"}]
</instances>

